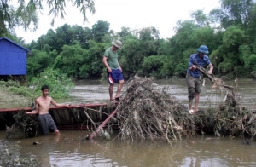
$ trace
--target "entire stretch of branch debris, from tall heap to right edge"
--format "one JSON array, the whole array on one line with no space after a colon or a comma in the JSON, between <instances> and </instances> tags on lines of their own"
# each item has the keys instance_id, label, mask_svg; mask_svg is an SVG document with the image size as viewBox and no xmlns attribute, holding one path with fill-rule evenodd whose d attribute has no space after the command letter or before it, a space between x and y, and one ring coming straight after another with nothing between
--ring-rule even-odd
<instances>
[{"instance_id":1,"label":"entire stretch of branch debris, from tall heap to right edge","mask_svg":"<svg viewBox=\"0 0 256 167\"><path fill-rule=\"evenodd\" d=\"M189 114L188 107L167 90L168 87L159 86L152 78L135 76L128 81L117 107L121 139L170 142L198 132L232 137L249 135L252 138L256 134L256 115L247 107L241 107L233 89L217 108L205 108L195 114Z\"/></svg>"}]
</instances>

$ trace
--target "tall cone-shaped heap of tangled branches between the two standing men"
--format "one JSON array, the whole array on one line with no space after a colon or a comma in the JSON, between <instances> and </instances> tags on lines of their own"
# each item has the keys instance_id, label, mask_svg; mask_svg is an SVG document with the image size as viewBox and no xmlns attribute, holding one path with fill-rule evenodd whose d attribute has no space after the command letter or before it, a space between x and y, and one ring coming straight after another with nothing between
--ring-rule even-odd
<instances>
[{"instance_id":1,"label":"tall cone-shaped heap of tangled branches between the two standing men","mask_svg":"<svg viewBox=\"0 0 256 167\"><path fill-rule=\"evenodd\" d=\"M118 123L122 139L179 140L195 135L195 118L188 108L166 93L152 78L135 76L119 102Z\"/></svg>"}]
</instances>

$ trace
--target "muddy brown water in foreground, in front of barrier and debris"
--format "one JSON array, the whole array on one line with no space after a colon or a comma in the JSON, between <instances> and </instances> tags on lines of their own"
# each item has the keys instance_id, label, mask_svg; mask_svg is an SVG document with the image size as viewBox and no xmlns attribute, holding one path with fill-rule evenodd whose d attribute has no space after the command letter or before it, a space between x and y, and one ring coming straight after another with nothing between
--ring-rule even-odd
<instances>
[{"instance_id":1,"label":"muddy brown water in foreground, in front of barrier and debris","mask_svg":"<svg viewBox=\"0 0 256 167\"><path fill-rule=\"evenodd\" d=\"M61 130L63 136L40 136L20 141L20 154L36 158L42 166L255 166L256 144L240 139L213 136L184 138L172 146L164 141L114 141L88 135L79 130ZM3 136L4 132L0 132ZM117 134L112 135L115 137ZM111 139L111 140L112 140ZM38 141L38 145L33 145Z\"/></svg>"}]
</instances>

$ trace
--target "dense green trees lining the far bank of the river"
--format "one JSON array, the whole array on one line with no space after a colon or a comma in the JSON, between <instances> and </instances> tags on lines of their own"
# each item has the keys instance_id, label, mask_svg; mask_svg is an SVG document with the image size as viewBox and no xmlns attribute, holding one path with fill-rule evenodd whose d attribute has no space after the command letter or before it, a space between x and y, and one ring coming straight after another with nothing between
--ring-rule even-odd
<instances>
[{"instance_id":1,"label":"dense green trees lining the far bank of the river","mask_svg":"<svg viewBox=\"0 0 256 167\"><path fill-rule=\"evenodd\" d=\"M91 28L63 25L50 29L37 41L26 44L28 76L38 76L51 68L74 79L99 79L106 76L102 65L104 50L119 39L119 64L124 77L184 77L189 55L206 44L214 75L230 78L256 77L256 3L254 0L221 0L219 9L209 14L191 13L191 20L179 20L175 35L163 39L154 27L119 32L99 20ZM167 20L166 20L167 21ZM170 30L171 32L171 30ZM18 41L18 39L16 39Z\"/></svg>"}]
</instances>

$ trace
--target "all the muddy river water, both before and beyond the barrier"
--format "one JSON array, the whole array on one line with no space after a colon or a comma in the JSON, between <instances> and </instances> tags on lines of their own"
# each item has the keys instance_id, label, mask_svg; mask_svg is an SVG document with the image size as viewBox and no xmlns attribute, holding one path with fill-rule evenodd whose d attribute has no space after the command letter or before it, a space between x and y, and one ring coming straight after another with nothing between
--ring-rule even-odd
<instances>
[{"instance_id":1,"label":"all the muddy river water, both before and beyond the barrier","mask_svg":"<svg viewBox=\"0 0 256 167\"><path fill-rule=\"evenodd\" d=\"M168 93L178 101L187 104L187 88L183 79L156 81L162 86L169 86ZM236 86L237 95L244 106L253 107L256 100L255 80L229 81ZM224 100L226 90L211 90L212 83L207 81L201 92L201 107L218 104ZM125 88L124 88L125 89ZM116 87L114 88L114 91ZM80 81L71 91L73 98L59 102L98 103L108 101L108 83L100 81ZM256 166L256 142L245 143L243 139L196 135L172 143L163 141L120 141L96 137L92 141L83 141L88 132L85 130L61 130L61 136L39 136L36 138L12 139L9 144L19 141L17 152L23 157L36 158L41 166L85 166L85 167L120 167L120 166ZM5 138L5 131L0 131L0 139ZM113 140L114 139L114 140ZM7 140L7 139L5 139ZM38 142L38 145L33 145ZM1 166L1 164L0 164Z\"/></svg>"}]
</instances>

